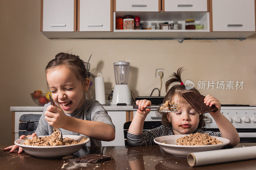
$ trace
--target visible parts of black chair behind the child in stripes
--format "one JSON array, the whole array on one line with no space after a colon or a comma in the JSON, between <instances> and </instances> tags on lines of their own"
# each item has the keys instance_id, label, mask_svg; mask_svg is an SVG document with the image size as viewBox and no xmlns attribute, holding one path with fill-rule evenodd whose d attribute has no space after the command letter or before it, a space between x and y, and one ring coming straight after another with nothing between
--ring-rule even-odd
<instances>
[{"instance_id":1,"label":"visible parts of black chair behind the child in stripes","mask_svg":"<svg viewBox=\"0 0 256 170\"><path fill-rule=\"evenodd\" d=\"M128 129L129 129L131 123L132 123L132 121L124 123L124 145L125 146L129 146L129 144L127 142L127 133L128 133ZM143 131L154 129L161 125L162 125L161 121L145 121L144 125L143 125Z\"/></svg>"}]
</instances>

